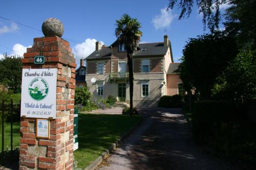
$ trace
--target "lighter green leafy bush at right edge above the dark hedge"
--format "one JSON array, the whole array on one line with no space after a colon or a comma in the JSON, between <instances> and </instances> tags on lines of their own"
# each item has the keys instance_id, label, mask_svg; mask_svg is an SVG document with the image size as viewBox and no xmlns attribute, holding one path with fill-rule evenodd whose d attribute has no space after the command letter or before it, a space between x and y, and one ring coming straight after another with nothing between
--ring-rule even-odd
<instances>
[{"instance_id":1,"label":"lighter green leafy bush at right edge above the dark hedge","mask_svg":"<svg viewBox=\"0 0 256 170\"><path fill-rule=\"evenodd\" d=\"M245 105L256 96L256 50L242 51L212 88L212 96L232 101L236 106Z\"/></svg>"}]
</instances>

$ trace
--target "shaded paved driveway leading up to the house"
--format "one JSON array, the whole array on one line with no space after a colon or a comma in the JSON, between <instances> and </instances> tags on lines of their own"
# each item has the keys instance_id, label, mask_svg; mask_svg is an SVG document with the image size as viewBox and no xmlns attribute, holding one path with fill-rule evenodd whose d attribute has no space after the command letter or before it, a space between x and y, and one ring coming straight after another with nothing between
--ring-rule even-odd
<instances>
[{"instance_id":1,"label":"shaded paved driveway leading up to the house","mask_svg":"<svg viewBox=\"0 0 256 170\"><path fill-rule=\"evenodd\" d=\"M181 109L139 112L144 122L98 169L238 169L197 147Z\"/></svg>"}]
</instances>

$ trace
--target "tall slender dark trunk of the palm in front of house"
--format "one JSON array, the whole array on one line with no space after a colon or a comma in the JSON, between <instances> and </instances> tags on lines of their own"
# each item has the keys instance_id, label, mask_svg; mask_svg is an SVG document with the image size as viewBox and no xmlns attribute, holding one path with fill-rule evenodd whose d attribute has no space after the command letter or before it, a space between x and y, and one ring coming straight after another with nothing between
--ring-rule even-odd
<instances>
[{"instance_id":1,"label":"tall slender dark trunk of the palm in front of house","mask_svg":"<svg viewBox=\"0 0 256 170\"><path fill-rule=\"evenodd\" d=\"M129 83L130 83L130 115L133 114L133 58L127 54L129 68Z\"/></svg>"}]
</instances>

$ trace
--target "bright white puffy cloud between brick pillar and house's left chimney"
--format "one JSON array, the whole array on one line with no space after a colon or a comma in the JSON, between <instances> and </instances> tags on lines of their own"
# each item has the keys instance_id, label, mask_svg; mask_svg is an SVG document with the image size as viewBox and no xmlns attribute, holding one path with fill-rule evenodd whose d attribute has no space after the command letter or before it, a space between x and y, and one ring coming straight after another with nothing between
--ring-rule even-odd
<instances>
[{"instance_id":1,"label":"bright white puffy cloud between brick pillar and house's left chimney","mask_svg":"<svg viewBox=\"0 0 256 170\"><path fill-rule=\"evenodd\" d=\"M74 53L74 56L76 58L76 61L80 61L81 58L88 57L92 52L95 51L95 42L96 39L87 38L83 43L76 44L72 51ZM101 45L104 44L104 42L100 41Z\"/></svg>"}]
</instances>

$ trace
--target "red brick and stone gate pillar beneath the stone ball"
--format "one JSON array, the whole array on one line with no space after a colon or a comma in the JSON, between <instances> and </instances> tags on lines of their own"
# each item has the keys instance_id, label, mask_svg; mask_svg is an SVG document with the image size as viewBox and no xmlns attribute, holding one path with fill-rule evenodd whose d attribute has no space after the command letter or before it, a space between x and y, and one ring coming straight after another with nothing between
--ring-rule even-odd
<instances>
[{"instance_id":1,"label":"red brick and stone gate pillar beneath the stone ball","mask_svg":"<svg viewBox=\"0 0 256 170\"><path fill-rule=\"evenodd\" d=\"M35 56L45 56L45 64L34 64ZM22 62L23 68L57 68L57 111L49 139L36 138L35 118L20 118L19 169L72 169L76 63L69 42L57 36L34 38Z\"/></svg>"}]
</instances>

